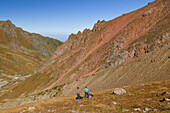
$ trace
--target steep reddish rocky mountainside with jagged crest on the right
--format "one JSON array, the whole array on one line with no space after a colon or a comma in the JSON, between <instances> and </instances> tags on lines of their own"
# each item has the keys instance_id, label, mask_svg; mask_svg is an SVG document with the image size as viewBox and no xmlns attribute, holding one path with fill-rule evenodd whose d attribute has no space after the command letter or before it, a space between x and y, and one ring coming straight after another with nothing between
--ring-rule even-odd
<instances>
[{"instance_id":1,"label":"steep reddish rocky mountainside with jagged crest on the right","mask_svg":"<svg viewBox=\"0 0 170 113\"><path fill-rule=\"evenodd\" d=\"M2 98L16 98L35 94L54 86L89 76L95 72L104 71L109 67L114 66L113 68L116 68L117 65L123 62L128 62L128 60L133 60L137 56L139 57L147 52L157 50L157 48L167 46L170 36L169 13L169 1L157 0L116 19L107 22L98 21L92 30L85 29L82 33L71 34L69 39L57 48L53 56L41 65L33 76L12 88L14 95L7 94L3 95ZM139 66L142 63L144 61ZM153 65L146 66L152 68ZM122 68L120 67L120 70ZM156 69L159 69L159 65ZM149 73L154 74L157 72L156 70L154 71L153 73L149 71ZM137 75L139 72L136 72ZM110 71L110 73L114 72ZM123 76L126 74L127 76ZM101 74L101 76L105 77L104 74ZM126 72L122 76L125 81L128 80L128 77L134 78L132 80L134 83L138 79L138 76ZM143 79L140 83L152 81L148 76L149 74L146 73L146 79ZM165 78L166 76L167 73ZM155 75L155 78L159 77L159 74ZM103 79L101 79L101 84L107 84L107 81L103 81ZM114 79L121 78L115 77ZM119 85L128 84L130 83L123 82ZM94 90L98 90L98 88Z\"/></svg>"}]
</instances>

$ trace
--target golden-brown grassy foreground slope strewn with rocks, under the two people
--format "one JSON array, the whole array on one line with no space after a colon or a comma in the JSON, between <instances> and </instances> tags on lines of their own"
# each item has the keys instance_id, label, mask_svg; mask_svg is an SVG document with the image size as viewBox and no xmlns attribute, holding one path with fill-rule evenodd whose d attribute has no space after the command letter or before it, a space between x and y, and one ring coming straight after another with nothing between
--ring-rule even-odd
<instances>
[{"instance_id":1,"label":"golden-brown grassy foreground slope strewn with rocks, under the two people","mask_svg":"<svg viewBox=\"0 0 170 113\"><path fill-rule=\"evenodd\" d=\"M168 93L165 96L157 97L156 95L163 92L170 92L170 81L157 81L145 84L138 84L134 86L123 87L127 93L123 95L112 95L113 89L91 92L94 97L91 99L75 100L76 95L67 97L57 97L53 99L46 99L36 103L22 105L16 108L1 110L2 113L18 113L24 111L28 112L105 112L105 113L120 113L123 109L128 112L135 112L135 108L144 110L149 108L150 112L169 112L169 102L159 102L163 98L169 98ZM84 95L84 94L81 94ZM112 102L119 104L112 104ZM29 107L35 109L29 110Z\"/></svg>"}]
</instances>

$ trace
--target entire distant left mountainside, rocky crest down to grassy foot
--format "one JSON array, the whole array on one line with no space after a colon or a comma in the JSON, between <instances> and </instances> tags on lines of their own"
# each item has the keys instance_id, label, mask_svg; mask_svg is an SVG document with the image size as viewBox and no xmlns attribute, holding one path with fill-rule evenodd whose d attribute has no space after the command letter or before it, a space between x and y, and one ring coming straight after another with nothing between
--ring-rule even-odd
<instances>
[{"instance_id":1,"label":"entire distant left mountainside, rocky crest down to grassy foot","mask_svg":"<svg viewBox=\"0 0 170 113\"><path fill-rule=\"evenodd\" d=\"M6 74L31 74L62 42L29 33L10 20L0 21L0 70Z\"/></svg>"}]
</instances>

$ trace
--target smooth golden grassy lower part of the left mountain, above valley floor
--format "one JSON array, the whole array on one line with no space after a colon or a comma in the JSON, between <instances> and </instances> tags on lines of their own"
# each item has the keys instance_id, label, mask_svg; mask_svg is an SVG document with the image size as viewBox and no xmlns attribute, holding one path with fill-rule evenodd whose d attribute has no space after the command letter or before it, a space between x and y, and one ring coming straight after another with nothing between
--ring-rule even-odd
<instances>
[{"instance_id":1,"label":"smooth golden grassy lower part of the left mountain, above valley floor","mask_svg":"<svg viewBox=\"0 0 170 113\"><path fill-rule=\"evenodd\" d=\"M33 73L41 64L36 56L0 47L0 69L3 73L26 75Z\"/></svg>"}]
</instances>

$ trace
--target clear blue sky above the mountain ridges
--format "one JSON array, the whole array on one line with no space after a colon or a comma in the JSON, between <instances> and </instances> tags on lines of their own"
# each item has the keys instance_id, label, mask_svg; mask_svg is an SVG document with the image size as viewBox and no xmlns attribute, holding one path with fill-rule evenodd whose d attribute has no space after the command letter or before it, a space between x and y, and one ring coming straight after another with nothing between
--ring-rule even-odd
<instances>
[{"instance_id":1,"label":"clear blue sky above the mountain ridges","mask_svg":"<svg viewBox=\"0 0 170 113\"><path fill-rule=\"evenodd\" d=\"M0 20L65 41L71 33L92 28L154 0L0 0Z\"/></svg>"}]
</instances>

